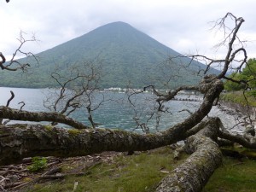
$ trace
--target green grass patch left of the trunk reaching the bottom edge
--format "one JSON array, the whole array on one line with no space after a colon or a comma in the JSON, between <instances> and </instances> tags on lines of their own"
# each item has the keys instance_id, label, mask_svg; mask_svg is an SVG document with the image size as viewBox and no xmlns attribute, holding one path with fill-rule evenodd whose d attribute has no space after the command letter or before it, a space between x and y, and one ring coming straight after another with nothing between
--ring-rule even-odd
<instances>
[{"instance_id":1,"label":"green grass patch left of the trunk reaching the bottom edge","mask_svg":"<svg viewBox=\"0 0 256 192\"><path fill-rule=\"evenodd\" d=\"M101 163L91 167L86 170L90 172L86 176L67 177L61 182L38 183L26 191L73 191L75 182L79 183L76 192L154 191L166 172L172 171L177 164L170 148L160 148L148 153L121 155L110 165ZM160 172L163 170L165 172Z\"/></svg>"}]
</instances>

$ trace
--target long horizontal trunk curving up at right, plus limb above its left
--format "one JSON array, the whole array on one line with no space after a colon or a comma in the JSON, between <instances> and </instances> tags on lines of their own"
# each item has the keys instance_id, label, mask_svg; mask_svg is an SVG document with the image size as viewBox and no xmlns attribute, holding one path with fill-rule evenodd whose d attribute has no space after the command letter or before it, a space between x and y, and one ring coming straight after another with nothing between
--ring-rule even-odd
<instances>
[{"instance_id":1,"label":"long horizontal trunk curving up at right, plus limb above its left","mask_svg":"<svg viewBox=\"0 0 256 192\"><path fill-rule=\"evenodd\" d=\"M67 157L111 150L148 150L177 143L177 141L186 139L188 137L186 131L200 123L210 112L213 102L223 89L223 83L219 79L212 80L210 84L202 83L200 90L206 94L201 107L183 123L156 134L141 135L127 131L103 129L68 131L58 128L49 129L44 125L0 126L0 164L11 163L11 161L35 155ZM55 113L28 113L6 107L0 108L0 117L4 119L31 119L34 121L47 119L56 121L58 119L61 121L61 116L64 116L51 119L51 114Z\"/></svg>"}]
</instances>

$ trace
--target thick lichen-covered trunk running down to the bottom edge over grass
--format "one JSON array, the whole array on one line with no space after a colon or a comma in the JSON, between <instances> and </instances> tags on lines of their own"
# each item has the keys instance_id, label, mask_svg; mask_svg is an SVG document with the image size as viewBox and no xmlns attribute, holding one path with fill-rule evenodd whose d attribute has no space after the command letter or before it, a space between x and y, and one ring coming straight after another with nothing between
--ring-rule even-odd
<instances>
[{"instance_id":1,"label":"thick lichen-covered trunk running down to the bottom edge over grass","mask_svg":"<svg viewBox=\"0 0 256 192\"><path fill-rule=\"evenodd\" d=\"M186 148L192 152L187 160L174 169L159 184L158 192L199 192L222 162L222 154L214 141L218 137L219 119L187 139Z\"/></svg>"}]
</instances>

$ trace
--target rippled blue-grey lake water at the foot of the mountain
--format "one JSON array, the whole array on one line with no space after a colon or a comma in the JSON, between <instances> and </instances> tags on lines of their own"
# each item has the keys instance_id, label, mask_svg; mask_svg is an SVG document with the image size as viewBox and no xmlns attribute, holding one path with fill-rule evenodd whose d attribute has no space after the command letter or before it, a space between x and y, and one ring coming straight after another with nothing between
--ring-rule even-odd
<instances>
[{"instance_id":1,"label":"rippled blue-grey lake water at the foot of the mountain","mask_svg":"<svg viewBox=\"0 0 256 192\"><path fill-rule=\"evenodd\" d=\"M0 87L0 105L6 105L10 97L9 91L13 90L15 92L15 99L10 103L11 108L20 108L19 102L26 102L23 110L27 111L49 111L49 109L44 108L44 100L49 97L49 90L47 89L21 89L21 88L3 88ZM154 96L150 93L141 94L138 96L131 97L132 102L134 102L136 108L131 108L131 104L127 102L127 96L125 93L118 92L104 92L96 93L94 102L100 102L102 99L102 94L106 102L97 108L93 112L93 116L96 123L101 124L100 127L108 128L119 128L127 131L134 130L137 125L132 119L137 113L137 117L141 119L141 122L147 123L148 127L154 131L155 130L155 119L151 119L146 122L149 117L148 111L153 108ZM185 95L178 96L179 98L186 97ZM160 130L164 130L172 125L181 122L184 118L189 116L186 111L181 112L183 109L189 109L189 111L195 111L200 102L180 102L172 101L166 103L166 107L172 113L162 113L160 118ZM134 110L136 109L136 110ZM225 125L234 125L234 120L227 114L224 114L218 108L212 108L210 115L219 116L224 119ZM71 115L74 119L84 122L89 125L87 120L87 113L84 109L79 109L78 111L72 113ZM14 121L13 121L14 122ZM140 130L137 130L140 131Z\"/></svg>"}]
</instances>

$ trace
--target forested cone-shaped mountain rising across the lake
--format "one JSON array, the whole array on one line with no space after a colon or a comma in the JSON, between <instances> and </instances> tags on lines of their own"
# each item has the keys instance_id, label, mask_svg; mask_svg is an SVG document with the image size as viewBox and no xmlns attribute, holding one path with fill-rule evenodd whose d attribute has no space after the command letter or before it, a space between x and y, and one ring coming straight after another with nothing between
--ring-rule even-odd
<instances>
[{"instance_id":1,"label":"forested cone-shaped mountain rising across the lake","mask_svg":"<svg viewBox=\"0 0 256 192\"><path fill-rule=\"evenodd\" d=\"M32 64L26 75L1 71L0 86L53 87L57 84L50 79L50 72L55 65L59 73L65 74L67 66L88 61L102 65L102 88L126 87L127 84L134 88L148 84L173 88L195 84L201 79L198 71L206 68L196 61L190 63L189 58L120 21L100 26L37 56L39 65ZM171 61L171 57L176 59ZM211 69L211 73L218 71Z\"/></svg>"}]
</instances>

